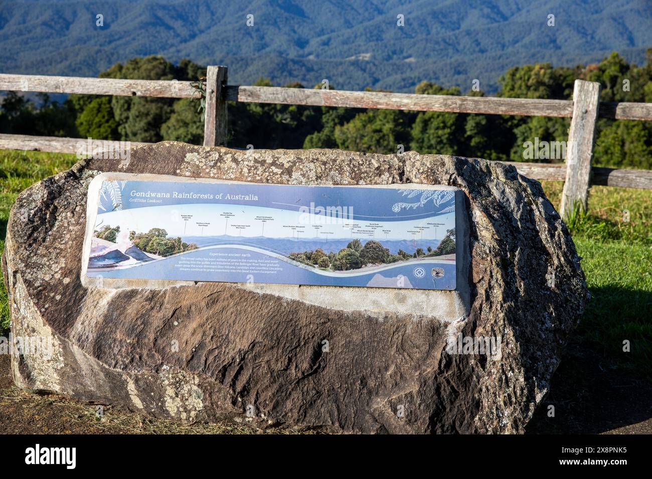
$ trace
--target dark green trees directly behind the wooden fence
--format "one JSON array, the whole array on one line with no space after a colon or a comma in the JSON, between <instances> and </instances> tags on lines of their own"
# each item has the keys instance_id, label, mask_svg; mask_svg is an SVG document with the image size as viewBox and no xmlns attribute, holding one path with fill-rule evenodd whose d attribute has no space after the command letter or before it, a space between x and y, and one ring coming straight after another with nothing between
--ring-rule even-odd
<instances>
[{"instance_id":1,"label":"dark green trees directly behind the wooden fence","mask_svg":"<svg viewBox=\"0 0 652 479\"><path fill-rule=\"evenodd\" d=\"M151 56L117 63L100 78L197 81L204 75L205 67L192 61L173 65L162 57ZM617 53L600 63L574 68L548 63L516 66L501 76L497 96L571 99L576 78L599 81L602 101L652 102L652 49L647 51L643 66L627 63ZM271 86L271 81L261 78L256 85ZM304 87L299 83L284 86ZM417 85L415 93L462 94L456 87L443 88L427 80ZM482 91L464 94L484 95ZM235 102L230 102L228 109L231 147L341 148L386 154L402 148L528 162L563 161L554 154L540 156L538 151L534 157L528 155L526 145L566 141L570 124L570 119L552 117ZM51 102L46 94L32 102L9 93L0 111L0 132L148 142L173 139L201 144L200 110L200 100L186 98L70 95L59 104ZM652 169L652 122L600 119L593 163Z\"/></svg>"}]
</instances>

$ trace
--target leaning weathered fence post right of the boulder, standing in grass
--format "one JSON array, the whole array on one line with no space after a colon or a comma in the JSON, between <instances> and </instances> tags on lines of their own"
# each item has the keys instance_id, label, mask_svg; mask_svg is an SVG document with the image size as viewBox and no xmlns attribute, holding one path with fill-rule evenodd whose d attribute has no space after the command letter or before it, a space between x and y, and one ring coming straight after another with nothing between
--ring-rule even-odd
<instances>
[{"instance_id":1,"label":"leaning weathered fence post right of the boulder, standing in grass","mask_svg":"<svg viewBox=\"0 0 652 479\"><path fill-rule=\"evenodd\" d=\"M600 83L575 80L572 98L571 130L566 148L566 182L561 196L562 218L567 218L576 204L586 209L595 122L600 106Z\"/></svg>"}]
</instances>

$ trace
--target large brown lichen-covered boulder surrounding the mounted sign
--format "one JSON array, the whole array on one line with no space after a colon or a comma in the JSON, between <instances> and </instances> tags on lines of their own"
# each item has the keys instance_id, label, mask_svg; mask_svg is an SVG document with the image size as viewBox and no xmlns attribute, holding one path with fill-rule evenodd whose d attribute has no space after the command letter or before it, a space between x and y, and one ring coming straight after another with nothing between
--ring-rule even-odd
<instances>
[{"instance_id":1,"label":"large brown lichen-covered boulder surrounding the mounted sign","mask_svg":"<svg viewBox=\"0 0 652 479\"><path fill-rule=\"evenodd\" d=\"M463 277L458 291L393 293L85 286L87 191L108 171L455 186L467 224L458 252ZM183 422L232 418L333 432L522 432L588 295L569 231L537 181L512 166L415 152L164 142L133 149L128 161L83 160L18 197L2 265L12 334L53 343L51 355L12 357L20 387ZM498 338L499 352L451 349L466 338Z\"/></svg>"}]
</instances>

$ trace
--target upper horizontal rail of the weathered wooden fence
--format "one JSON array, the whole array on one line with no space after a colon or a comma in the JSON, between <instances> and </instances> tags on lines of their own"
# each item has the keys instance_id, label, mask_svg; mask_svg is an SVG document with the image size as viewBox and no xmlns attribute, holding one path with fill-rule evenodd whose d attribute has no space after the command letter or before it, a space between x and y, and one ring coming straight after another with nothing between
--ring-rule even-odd
<instances>
[{"instance_id":1,"label":"upper horizontal rail of the weathered wooden fence","mask_svg":"<svg viewBox=\"0 0 652 479\"><path fill-rule=\"evenodd\" d=\"M191 81L119 80L75 76L0 74L0 90L200 98ZM449 111L484 115L572 117L572 100L497 98L494 96L452 96L375 91L340 91L285 87L226 85L225 99L234 102L277 103L347 108ZM652 103L601 102L599 116L617 120L652 120Z\"/></svg>"}]
</instances>

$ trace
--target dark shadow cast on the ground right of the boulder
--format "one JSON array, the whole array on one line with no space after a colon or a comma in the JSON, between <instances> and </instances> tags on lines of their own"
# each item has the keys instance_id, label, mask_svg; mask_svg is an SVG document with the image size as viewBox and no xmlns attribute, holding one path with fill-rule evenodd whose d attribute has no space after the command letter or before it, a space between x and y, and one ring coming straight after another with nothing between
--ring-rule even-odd
<instances>
[{"instance_id":1,"label":"dark shadow cast on the ground right of the boulder","mask_svg":"<svg viewBox=\"0 0 652 479\"><path fill-rule=\"evenodd\" d=\"M598 287L591 294L527 433L603 433L652 418L652 293ZM630 341L629 353L623 340ZM652 433L652 422L627 432Z\"/></svg>"}]
</instances>

